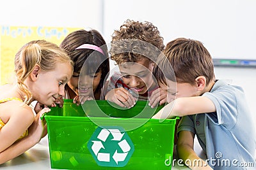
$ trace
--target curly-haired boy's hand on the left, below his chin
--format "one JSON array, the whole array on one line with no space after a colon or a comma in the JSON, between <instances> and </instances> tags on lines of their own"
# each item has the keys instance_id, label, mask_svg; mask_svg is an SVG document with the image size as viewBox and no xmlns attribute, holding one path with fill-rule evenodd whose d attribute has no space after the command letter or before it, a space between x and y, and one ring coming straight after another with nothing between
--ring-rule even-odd
<instances>
[{"instance_id":1,"label":"curly-haired boy's hand on the left, below his chin","mask_svg":"<svg viewBox=\"0 0 256 170\"><path fill-rule=\"evenodd\" d=\"M106 94L106 100L116 103L122 108L132 108L134 104L136 104L132 94L130 94L128 90L124 89L124 87L110 90Z\"/></svg>"}]
</instances>

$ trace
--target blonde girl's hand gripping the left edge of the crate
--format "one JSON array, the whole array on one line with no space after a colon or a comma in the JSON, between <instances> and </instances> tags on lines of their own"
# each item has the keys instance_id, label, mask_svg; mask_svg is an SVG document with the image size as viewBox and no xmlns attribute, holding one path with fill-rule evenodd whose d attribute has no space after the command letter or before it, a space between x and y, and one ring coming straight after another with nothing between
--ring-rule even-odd
<instances>
[{"instance_id":1,"label":"blonde girl's hand gripping the left edge of the crate","mask_svg":"<svg viewBox=\"0 0 256 170\"><path fill-rule=\"evenodd\" d=\"M47 134L47 126L44 124L43 120L41 120L42 115L51 111L49 108L44 108L38 112L35 117L33 124L31 124L28 128L28 134L33 139L36 140L36 143L40 141Z\"/></svg>"}]
</instances>

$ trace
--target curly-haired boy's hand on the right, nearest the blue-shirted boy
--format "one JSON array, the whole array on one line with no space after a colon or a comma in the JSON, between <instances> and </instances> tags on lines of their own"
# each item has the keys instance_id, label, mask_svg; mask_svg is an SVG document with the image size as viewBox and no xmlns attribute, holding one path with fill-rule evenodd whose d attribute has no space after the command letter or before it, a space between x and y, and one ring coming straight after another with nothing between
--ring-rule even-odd
<instances>
[{"instance_id":1,"label":"curly-haired boy's hand on the right, nearest the blue-shirted boy","mask_svg":"<svg viewBox=\"0 0 256 170\"><path fill-rule=\"evenodd\" d=\"M157 106L159 103L164 104L166 103L166 97L167 97L167 92L161 88L158 88L152 92L150 98L149 98L149 103L148 105L151 106L151 108L154 108Z\"/></svg>"}]
</instances>

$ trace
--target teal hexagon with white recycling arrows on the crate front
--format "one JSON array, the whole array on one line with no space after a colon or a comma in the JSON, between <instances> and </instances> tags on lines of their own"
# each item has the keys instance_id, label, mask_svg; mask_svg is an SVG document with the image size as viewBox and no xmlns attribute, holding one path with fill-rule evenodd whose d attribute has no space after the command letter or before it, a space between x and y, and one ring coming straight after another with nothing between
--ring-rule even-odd
<instances>
[{"instance_id":1,"label":"teal hexagon with white recycling arrows on the crate front","mask_svg":"<svg viewBox=\"0 0 256 170\"><path fill-rule=\"evenodd\" d=\"M99 166L124 167L134 152L134 145L122 127L97 127L87 144Z\"/></svg>"}]
</instances>

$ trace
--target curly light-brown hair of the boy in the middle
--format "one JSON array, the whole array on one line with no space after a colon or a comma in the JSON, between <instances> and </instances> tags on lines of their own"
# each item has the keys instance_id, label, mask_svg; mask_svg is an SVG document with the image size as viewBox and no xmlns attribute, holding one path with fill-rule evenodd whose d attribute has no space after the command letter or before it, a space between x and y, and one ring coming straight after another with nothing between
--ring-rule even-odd
<instances>
[{"instance_id":1,"label":"curly light-brown hair of the boy in the middle","mask_svg":"<svg viewBox=\"0 0 256 170\"><path fill-rule=\"evenodd\" d=\"M152 50L148 44L159 50ZM120 26L120 30L113 33L109 53L116 64L122 64L138 62L143 59L155 60L154 58L157 58L163 48L163 38L152 23L127 20ZM152 56L156 57L150 58Z\"/></svg>"}]
</instances>

